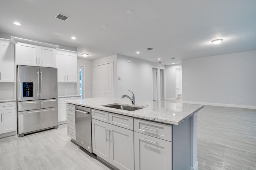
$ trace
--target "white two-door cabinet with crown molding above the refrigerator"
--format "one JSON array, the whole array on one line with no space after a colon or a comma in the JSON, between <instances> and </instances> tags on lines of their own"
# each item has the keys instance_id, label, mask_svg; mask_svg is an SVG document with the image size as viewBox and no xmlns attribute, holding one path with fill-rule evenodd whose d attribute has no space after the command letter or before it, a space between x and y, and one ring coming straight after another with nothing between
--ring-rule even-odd
<instances>
[{"instance_id":1,"label":"white two-door cabinet with crown molding above the refrigerator","mask_svg":"<svg viewBox=\"0 0 256 170\"><path fill-rule=\"evenodd\" d=\"M12 37L15 45L17 65L44 66L55 68L55 49L58 45L41 43L27 39Z\"/></svg>"}]
</instances>

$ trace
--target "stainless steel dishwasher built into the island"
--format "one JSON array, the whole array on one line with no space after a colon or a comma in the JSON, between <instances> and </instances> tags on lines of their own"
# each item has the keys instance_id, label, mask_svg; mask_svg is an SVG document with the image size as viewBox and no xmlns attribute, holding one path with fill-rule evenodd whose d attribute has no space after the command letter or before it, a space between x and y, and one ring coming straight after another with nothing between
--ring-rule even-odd
<instances>
[{"instance_id":1,"label":"stainless steel dishwasher built into the island","mask_svg":"<svg viewBox=\"0 0 256 170\"><path fill-rule=\"evenodd\" d=\"M76 143L92 153L91 108L75 105Z\"/></svg>"}]
</instances>

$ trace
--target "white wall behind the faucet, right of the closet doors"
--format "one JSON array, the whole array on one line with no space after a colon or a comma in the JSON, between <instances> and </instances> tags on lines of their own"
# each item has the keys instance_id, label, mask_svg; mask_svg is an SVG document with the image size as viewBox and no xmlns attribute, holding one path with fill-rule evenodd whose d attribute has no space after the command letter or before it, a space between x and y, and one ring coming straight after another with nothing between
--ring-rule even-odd
<instances>
[{"instance_id":1,"label":"white wall behind the faucet, right of the closet doors","mask_svg":"<svg viewBox=\"0 0 256 170\"><path fill-rule=\"evenodd\" d=\"M128 60L131 63L128 63ZM153 100L152 66L161 67L162 65L118 55L117 78L120 77L121 80L117 80L118 93L115 98L120 98L124 94L131 96L131 92L128 91L131 90L135 95L135 103L136 100ZM128 98L124 100L130 101Z\"/></svg>"}]
</instances>

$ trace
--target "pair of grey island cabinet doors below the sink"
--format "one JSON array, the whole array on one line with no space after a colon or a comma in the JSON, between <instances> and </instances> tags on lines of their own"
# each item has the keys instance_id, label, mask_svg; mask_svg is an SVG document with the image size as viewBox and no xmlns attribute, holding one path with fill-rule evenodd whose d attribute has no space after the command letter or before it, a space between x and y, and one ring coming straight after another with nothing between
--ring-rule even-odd
<instances>
[{"instance_id":1,"label":"pair of grey island cabinet doors below the sink","mask_svg":"<svg viewBox=\"0 0 256 170\"><path fill-rule=\"evenodd\" d=\"M134 170L133 131L92 119L92 152L120 170Z\"/></svg>"}]
</instances>

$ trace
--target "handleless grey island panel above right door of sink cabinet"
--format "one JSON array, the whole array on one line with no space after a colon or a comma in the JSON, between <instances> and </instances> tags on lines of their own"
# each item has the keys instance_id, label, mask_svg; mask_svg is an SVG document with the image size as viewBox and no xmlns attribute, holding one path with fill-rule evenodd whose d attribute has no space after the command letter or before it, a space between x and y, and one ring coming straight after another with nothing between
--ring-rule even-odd
<instances>
[{"instance_id":1,"label":"handleless grey island panel above right door of sink cabinet","mask_svg":"<svg viewBox=\"0 0 256 170\"><path fill-rule=\"evenodd\" d=\"M124 127L133 131L133 117L115 113L108 113L108 115L108 121L110 124Z\"/></svg>"}]
</instances>

